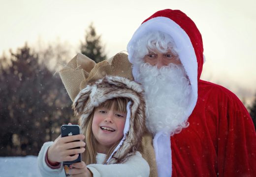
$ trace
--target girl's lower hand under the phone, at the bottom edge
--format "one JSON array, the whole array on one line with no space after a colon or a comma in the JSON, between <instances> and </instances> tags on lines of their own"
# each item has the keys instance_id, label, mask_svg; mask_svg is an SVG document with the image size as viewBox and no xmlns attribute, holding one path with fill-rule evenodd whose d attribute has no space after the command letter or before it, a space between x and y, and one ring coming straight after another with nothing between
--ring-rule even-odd
<instances>
[{"instance_id":1,"label":"girl's lower hand under the phone, at the bottom edge","mask_svg":"<svg viewBox=\"0 0 256 177\"><path fill-rule=\"evenodd\" d=\"M86 167L84 161L74 163L70 165L70 168L68 174L71 177L93 177L92 172Z\"/></svg>"}]
</instances>

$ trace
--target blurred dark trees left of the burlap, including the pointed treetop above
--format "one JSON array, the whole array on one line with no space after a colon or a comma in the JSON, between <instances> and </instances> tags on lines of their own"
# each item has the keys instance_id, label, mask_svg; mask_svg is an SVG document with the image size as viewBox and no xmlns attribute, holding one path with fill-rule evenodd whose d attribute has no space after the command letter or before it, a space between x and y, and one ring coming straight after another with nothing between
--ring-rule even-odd
<instances>
[{"instance_id":1,"label":"blurred dark trees left of the burlap, including the pointed treetop above","mask_svg":"<svg viewBox=\"0 0 256 177\"><path fill-rule=\"evenodd\" d=\"M62 124L77 123L72 101L54 74L68 54L63 46L35 52L25 44L0 57L0 156L38 155L44 142L60 135ZM96 62L106 58L93 24L80 50Z\"/></svg>"}]
</instances>

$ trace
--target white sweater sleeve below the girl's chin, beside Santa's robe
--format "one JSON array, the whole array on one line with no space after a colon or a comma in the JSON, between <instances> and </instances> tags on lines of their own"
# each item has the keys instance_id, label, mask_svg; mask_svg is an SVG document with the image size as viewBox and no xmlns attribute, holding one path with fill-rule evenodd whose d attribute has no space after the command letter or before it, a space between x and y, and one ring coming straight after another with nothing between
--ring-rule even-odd
<instances>
[{"instance_id":1,"label":"white sweater sleeve below the girl's chin, beside Santa's robe","mask_svg":"<svg viewBox=\"0 0 256 177\"><path fill-rule=\"evenodd\" d=\"M94 177L148 177L149 165L141 154L136 153L123 164L90 164L87 166Z\"/></svg>"}]
</instances>

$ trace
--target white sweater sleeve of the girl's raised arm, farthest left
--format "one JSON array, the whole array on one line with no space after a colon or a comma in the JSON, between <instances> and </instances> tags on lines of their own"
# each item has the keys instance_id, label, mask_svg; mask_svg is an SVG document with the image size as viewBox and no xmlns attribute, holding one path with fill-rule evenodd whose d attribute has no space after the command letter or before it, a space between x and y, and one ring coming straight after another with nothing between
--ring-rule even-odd
<instances>
[{"instance_id":1,"label":"white sweater sleeve of the girl's raised arm, farthest left","mask_svg":"<svg viewBox=\"0 0 256 177\"><path fill-rule=\"evenodd\" d=\"M46 156L47 150L52 144L53 142L44 143L38 154L37 165L38 165L39 172L42 177L65 177L65 172L62 164L60 168L52 169L45 162L45 156Z\"/></svg>"}]
</instances>

